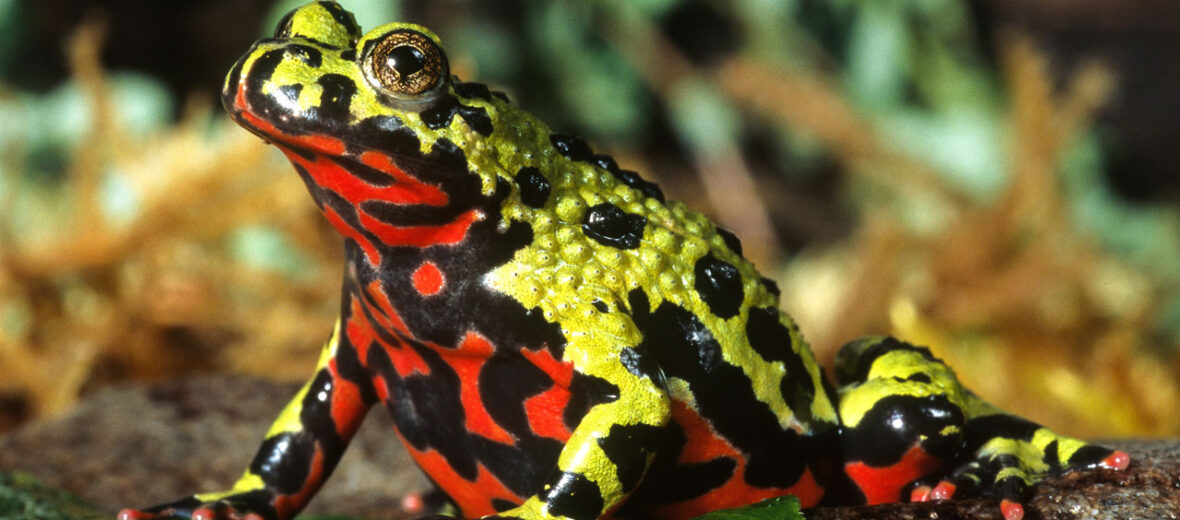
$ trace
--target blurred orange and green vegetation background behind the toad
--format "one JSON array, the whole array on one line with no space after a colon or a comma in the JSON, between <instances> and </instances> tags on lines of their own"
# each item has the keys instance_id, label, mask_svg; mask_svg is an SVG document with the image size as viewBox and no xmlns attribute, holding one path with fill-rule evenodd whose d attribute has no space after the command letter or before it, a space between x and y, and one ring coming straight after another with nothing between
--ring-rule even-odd
<instances>
[{"instance_id":1,"label":"blurred orange and green vegetation background behind the toad","mask_svg":"<svg viewBox=\"0 0 1180 520\"><path fill-rule=\"evenodd\" d=\"M0 432L310 373L340 239L217 101L300 4L0 0ZM1180 4L342 4L734 230L825 364L893 334L1049 426L1180 434Z\"/></svg>"}]
</instances>

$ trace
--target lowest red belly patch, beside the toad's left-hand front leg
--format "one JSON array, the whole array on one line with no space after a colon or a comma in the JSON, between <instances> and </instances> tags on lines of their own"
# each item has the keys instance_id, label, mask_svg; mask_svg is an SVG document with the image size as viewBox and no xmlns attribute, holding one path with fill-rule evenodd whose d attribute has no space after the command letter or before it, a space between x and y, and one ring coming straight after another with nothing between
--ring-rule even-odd
<instances>
[{"instance_id":1,"label":"lowest red belly patch, beside the toad's left-hand front leg","mask_svg":"<svg viewBox=\"0 0 1180 520\"><path fill-rule=\"evenodd\" d=\"M405 439L402 439L402 442L405 442ZM459 509L463 511L463 518L480 518L496 514L496 508L492 507L493 499L507 500L513 503L524 501L523 498L509 491L483 463L478 465L476 480L470 481L455 473L454 468L447 463L446 459L438 450L419 452L408 443L406 445L406 449L409 452L409 456L414 458L418 466L422 468L422 472L430 475L431 480L438 485L438 488L454 500Z\"/></svg>"}]
</instances>

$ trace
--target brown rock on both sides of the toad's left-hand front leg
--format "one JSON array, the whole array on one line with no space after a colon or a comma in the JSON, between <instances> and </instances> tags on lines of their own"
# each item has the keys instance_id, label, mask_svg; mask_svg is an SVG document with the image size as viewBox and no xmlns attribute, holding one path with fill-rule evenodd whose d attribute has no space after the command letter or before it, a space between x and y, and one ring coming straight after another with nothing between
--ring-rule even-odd
<instances>
[{"instance_id":1,"label":"brown rock on both sides of the toad's left-hand front leg","mask_svg":"<svg viewBox=\"0 0 1180 520\"><path fill-rule=\"evenodd\" d=\"M227 489L297 389L216 375L101 390L63 417L0 437L0 470L28 473L111 513ZM307 512L411 516L402 498L428 486L392 428L387 414L371 413Z\"/></svg>"}]
</instances>

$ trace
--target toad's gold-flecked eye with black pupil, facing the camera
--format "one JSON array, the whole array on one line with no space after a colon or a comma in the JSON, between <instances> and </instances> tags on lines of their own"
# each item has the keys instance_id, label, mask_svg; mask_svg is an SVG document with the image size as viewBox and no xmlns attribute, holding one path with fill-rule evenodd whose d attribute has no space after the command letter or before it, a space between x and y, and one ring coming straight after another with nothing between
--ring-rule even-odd
<instances>
[{"instance_id":1,"label":"toad's gold-flecked eye with black pupil, facing the camera","mask_svg":"<svg viewBox=\"0 0 1180 520\"><path fill-rule=\"evenodd\" d=\"M447 77L442 50L417 31L398 29L386 34L365 60L369 79L399 99L430 92Z\"/></svg>"}]
</instances>

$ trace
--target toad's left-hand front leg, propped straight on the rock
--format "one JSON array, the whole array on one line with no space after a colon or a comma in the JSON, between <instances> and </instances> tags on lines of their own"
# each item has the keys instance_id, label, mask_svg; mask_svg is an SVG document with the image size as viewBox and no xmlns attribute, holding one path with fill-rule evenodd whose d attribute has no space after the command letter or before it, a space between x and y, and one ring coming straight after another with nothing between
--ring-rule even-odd
<instances>
[{"instance_id":1,"label":"toad's left-hand front leg, propped straight on the rock","mask_svg":"<svg viewBox=\"0 0 1180 520\"><path fill-rule=\"evenodd\" d=\"M230 489L142 511L124 509L118 518L289 519L336 467L374 401L356 350L337 323L315 375L278 414L254 461Z\"/></svg>"}]
</instances>

